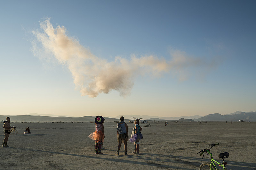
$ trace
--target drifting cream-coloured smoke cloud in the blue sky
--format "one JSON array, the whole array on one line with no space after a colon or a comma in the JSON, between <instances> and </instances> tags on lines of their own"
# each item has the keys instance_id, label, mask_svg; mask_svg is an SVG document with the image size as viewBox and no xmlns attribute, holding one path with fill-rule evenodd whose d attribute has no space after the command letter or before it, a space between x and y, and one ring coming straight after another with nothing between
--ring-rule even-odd
<instances>
[{"instance_id":1,"label":"drifting cream-coloured smoke cloud in the blue sky","mask_svg":"<svg viewBox=\"0 0 256 170\"><path fill-rule=\"evenodd\" d=\"M128 96L136 76L150 74L161 76L172 72L180 80L187 78L186 68L211 65L201 59L188 58L186 53L172 51L172 60L166 61L156 56L131 56L130 60L116 57L114 61L100 59L89 49L81 46L77 39L68 37L64 26L53 28L50 19L40 23L41 30L33 31L36 40L32 42L32 52L40 59L56 60L68 67L76 88L82 96L97 97L116 90L121 96Z\"/></svg>"}]
</instances>

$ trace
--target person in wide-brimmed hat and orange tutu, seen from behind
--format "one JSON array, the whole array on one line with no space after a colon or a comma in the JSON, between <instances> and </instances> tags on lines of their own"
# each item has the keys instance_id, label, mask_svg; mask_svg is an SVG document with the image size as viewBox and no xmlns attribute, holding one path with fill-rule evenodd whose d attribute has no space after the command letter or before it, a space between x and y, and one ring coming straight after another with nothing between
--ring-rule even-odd
<instances>
[{"instance_id":1,"label":"person in wide-brimmed hat and orange tutu, seen from behind","mask_svg":"<svg viewBox=\"0 0 256 170\"><path fill-rule=\"evenodd\" d=\"M105 121L104 117L96 116L94 121L96 124L95 131L89 135L89 138L91 138L92 140L95 140L94 151L96 154L103 154L101 152L101 145L105 138L104 125L103 125L104 121Z\"/></svg>"}]
</instances>

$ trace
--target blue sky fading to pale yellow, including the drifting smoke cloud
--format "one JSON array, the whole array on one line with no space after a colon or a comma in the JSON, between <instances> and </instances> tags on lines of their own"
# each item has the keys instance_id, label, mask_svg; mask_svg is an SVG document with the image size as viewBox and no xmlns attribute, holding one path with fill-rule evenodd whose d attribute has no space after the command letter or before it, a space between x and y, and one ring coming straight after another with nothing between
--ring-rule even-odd
<instances>
[{"instance_id":1,"label":"blue sky fading to pale yellow, including the drifting smoke cloud","mask_svg":"<svg viewBox=\"0 0 256 170\"><path fill-rule=\"evenodd\" d=\"M0 1L0 115L256 111L256 1Z\"/></svg>"}]
</instances>

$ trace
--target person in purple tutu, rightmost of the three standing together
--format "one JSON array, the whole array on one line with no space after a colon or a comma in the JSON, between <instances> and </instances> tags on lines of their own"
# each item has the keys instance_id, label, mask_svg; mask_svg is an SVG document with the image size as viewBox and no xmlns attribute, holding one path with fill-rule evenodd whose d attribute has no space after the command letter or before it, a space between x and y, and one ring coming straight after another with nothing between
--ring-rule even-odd
<instances>
[{"instance_id":1,"label":"person in purple tutu, rightmost of the three standing together","mask_svg":"<svg viewBox=\"0 0 256 170\"><path fill-rule=\"evenodd\" d=\"M140 127L140 120L136 119L134 121L134 127L132 130L132 135L131 138L129 139L130 142L134 142L134 154L139 154L139 150L140 150L140 145L139 145L139 141L140 139L142 139L142 134L140 133L140 131L142 131L142 128Z\"/></svg>"}]
</instances>

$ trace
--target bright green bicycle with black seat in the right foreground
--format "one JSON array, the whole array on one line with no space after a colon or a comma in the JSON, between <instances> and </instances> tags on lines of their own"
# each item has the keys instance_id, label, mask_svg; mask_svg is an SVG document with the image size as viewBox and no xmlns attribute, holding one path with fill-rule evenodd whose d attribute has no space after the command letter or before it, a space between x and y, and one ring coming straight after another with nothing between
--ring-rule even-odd
<instances>
[{"instance_id":1,"label":"bright green bicycle with black seat in the right foreground","mask_svg":"<svg viewBox=\"0 0 256 170\"><path fill-rule=\"evenodd\" d=\"M224 152L224 153L220 153L220 154L219 154L219 158L222 159L223 163L219 163L218 161L216 161L216 160L214 160L214 159L212 158L212 153L210 152L210 150L212 149L213 146L216 146L216 145L220 145L220 144L219 144L219 143L218 143L218 144L214 144L214 143L213 143L213 144L207 146L206 149L200 151L201 153L198 152L198 153L200 153L200 156L202 156L204 153L206 153L207 156L211 159L211 162L204 162L204 163L202 163L202 164L200 165L200 167L199 167L199 170L206 170L206 169L208 169L208 170L209 170L209 169L210 169L210 170L219 170L219 169L217 168L217 166L215 165L214 162L216 162L219 166L223 167L223 170L228 170L228 169L226 168L227 162L225 162L225 158L228 158L228 156L229 156L229 153L228 153L228 152ZM204 155L203 155L203 158L202 158L202 159L204 159Z\"/></svg>"}]
</instances>

